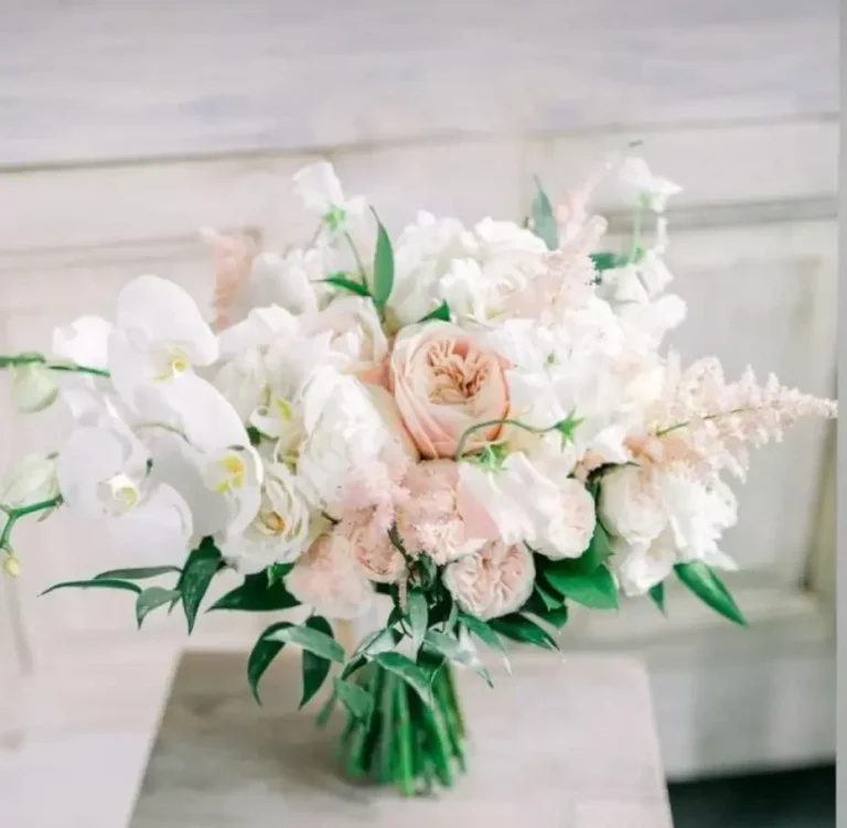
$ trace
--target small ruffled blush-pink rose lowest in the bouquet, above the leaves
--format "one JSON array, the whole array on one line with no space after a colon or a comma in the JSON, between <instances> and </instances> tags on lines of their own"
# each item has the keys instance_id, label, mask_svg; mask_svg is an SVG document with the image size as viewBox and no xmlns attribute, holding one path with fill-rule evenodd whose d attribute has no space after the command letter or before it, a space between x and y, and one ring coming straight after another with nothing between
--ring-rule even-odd
<instances>
[{"instance_id":1,"label":"small ruffled blush-pink rose lowest in the bouquet, above the leaves","mask_svg":"<svg viewBox=\"0 0 847 828\"><path fill-rule=\"evenodd\" d=\"M533 591L535 564L523 544L492 540L444 569L443 581L459 609L479 619L515 612Z\"/></svg>"}]
</instances>

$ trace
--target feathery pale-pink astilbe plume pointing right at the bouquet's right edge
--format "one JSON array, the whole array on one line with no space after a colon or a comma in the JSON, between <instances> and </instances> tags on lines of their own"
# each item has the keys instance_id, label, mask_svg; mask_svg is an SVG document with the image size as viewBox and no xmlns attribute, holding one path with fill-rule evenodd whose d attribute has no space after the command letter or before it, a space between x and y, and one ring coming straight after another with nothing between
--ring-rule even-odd
<instances>
[{"instance_id":1,"label":"feathery pale-pink astilbe plume pointing right at the bouquet's right edge","mask_svg":"<svg viewBox=\"0 0 847 828\"><path fill-rule=\"evenodd\" d=\"M722 469L743 478L750 447L781 441L785 428L801 417L835 417L832 400L780 384L771 374L759 385L752 368L727 383L715 357L683 370L679 358L667 359L662 397L647 412L648 432L660 442L644 443L662 464L685 464L703 476Z\"/></svg>"}]
</instances>

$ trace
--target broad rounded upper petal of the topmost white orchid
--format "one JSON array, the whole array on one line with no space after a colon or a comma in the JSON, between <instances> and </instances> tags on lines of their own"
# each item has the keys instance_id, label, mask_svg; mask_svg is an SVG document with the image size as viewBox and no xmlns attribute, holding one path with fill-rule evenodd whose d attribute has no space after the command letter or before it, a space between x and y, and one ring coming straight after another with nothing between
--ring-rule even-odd
<instances>
[{"instance_id":1,"label":"broad rounded upper petal of the topmost white orchid","mask_svg":"<svg viewBox=\"0 0 847 828\"><path fill-rule=\"evenodd\" d=\"M158 276L140 276L120 291L116 322L137 346L181 345L193 365L208 365L217 358L217 338L194 300Z\"/></svg>"}]
</instances>

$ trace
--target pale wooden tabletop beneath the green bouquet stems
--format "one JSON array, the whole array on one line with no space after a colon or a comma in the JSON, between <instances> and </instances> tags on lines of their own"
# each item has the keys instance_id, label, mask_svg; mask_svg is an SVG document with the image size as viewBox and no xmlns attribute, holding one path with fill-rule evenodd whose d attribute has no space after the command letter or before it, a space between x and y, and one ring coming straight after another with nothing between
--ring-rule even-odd
<instances>
[{"instance_id":1,"label":"pale wooden tabletop beneath the green bouquet stems","mask_svg":"<svg viewBox=\"0 0 847 828\"><path fill-rule=\"evenodd\" d=\"M335 774L342 717L321 731L297 712L299 662L272 665L262 707L245 668L246 654L183 657L130 828L671 828L634 659L519 654L493 690L460 675L470 773L418 799Z\"/></svg>"}]
</instances>

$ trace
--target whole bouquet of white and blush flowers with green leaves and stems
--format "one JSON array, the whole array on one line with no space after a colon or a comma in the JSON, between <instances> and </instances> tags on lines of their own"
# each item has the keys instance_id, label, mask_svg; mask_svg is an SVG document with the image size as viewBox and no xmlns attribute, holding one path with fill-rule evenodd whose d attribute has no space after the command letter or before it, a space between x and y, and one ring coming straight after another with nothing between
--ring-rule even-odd
<instances>
[{"instance_id":1,"label":"whole bouquet of white and blush flowers with green leaves and stems","mask_svg":"<svg viewBox=\"0 0 847 828\"><path fill-rule=\"evenodd\" d=\"M632 196L622 251L587 212L610 176ZM558 209L537 184L523 225L420 213L394 241L331 165L294 186L318 222L304 246L208 234L212 325L141 276L114 321L57 329L50 355L0 356L20 410L61 397L75 423L0 492L9 574L17 523L61 507L100 521L116 568L49 592L132 593L139 626L180 605L191 632L233 569L243 582L211 610L305 607L259 636L253 693L299 648L301 705L332 674L319 720L344 709L350 773L407 795L464 768L453 677L491 682L481 645L504 660L506 639L556 649L571 604L663 609L672 576L744 623L718 574L735 568L721 472L742 476L749 447L836 407L663 355L685 315L664 293L675 184L621 155ZM379 601L383 622L343 646L339 626Z\"/></svg>"}]
</instances>

